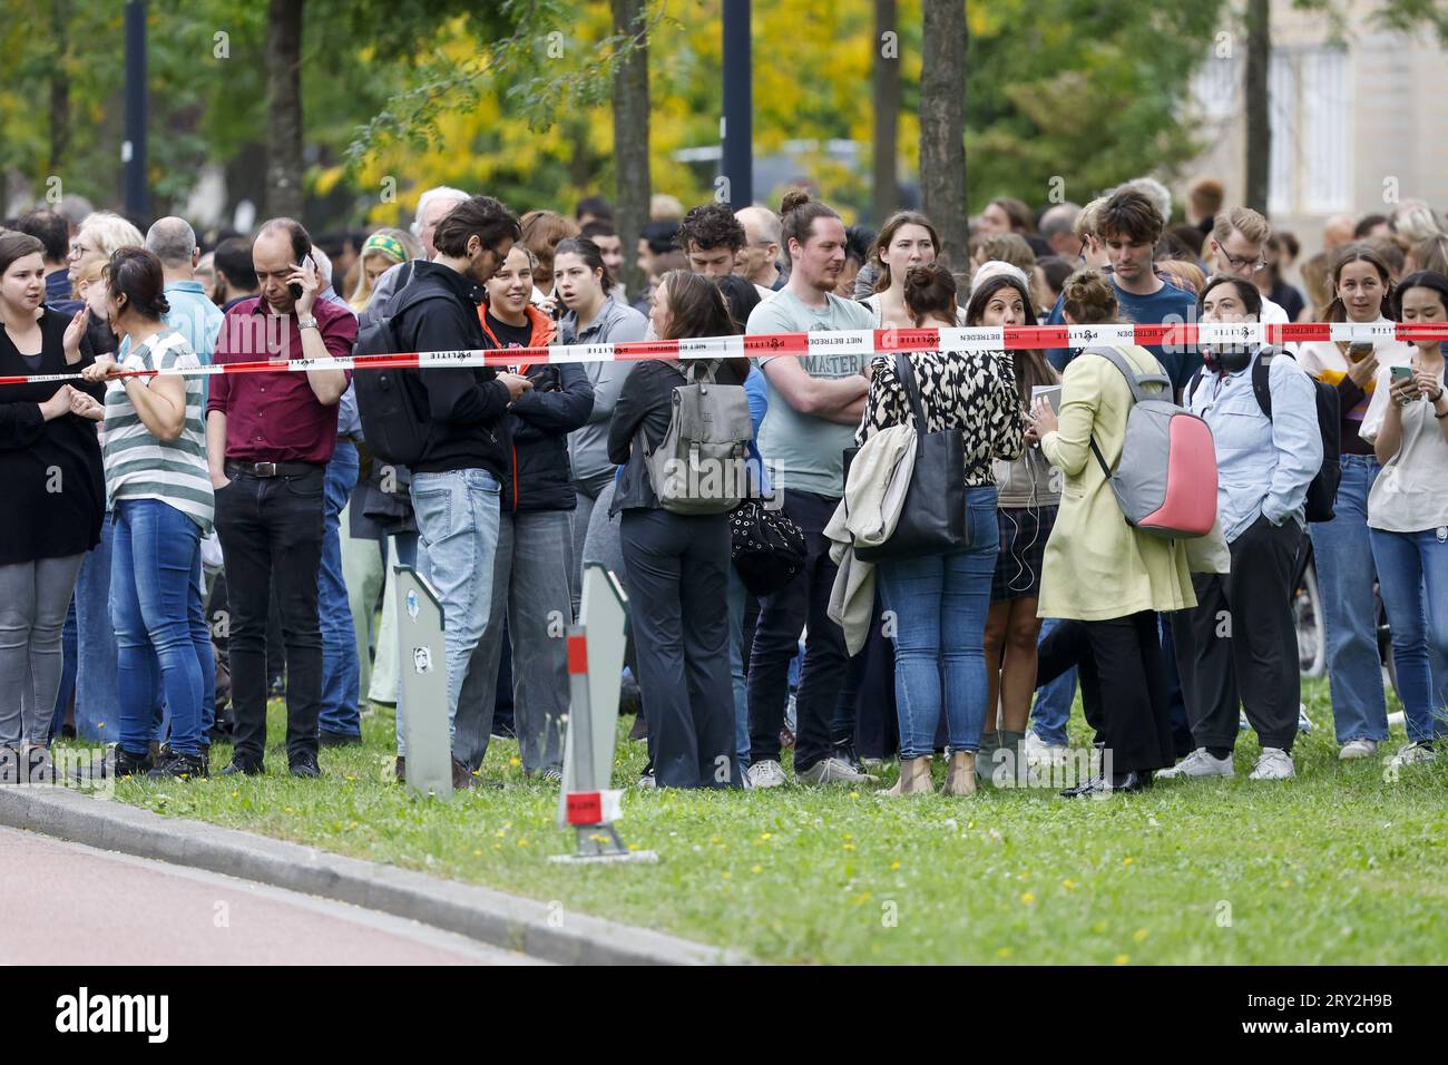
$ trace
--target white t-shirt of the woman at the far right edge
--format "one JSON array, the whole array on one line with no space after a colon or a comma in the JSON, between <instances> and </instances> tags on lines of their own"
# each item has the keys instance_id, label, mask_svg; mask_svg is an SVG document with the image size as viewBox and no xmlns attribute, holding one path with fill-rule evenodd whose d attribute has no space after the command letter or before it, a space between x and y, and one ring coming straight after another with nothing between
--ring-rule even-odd
<instances>
[{"instance_id":1,"label":"white t-shirt of the woman at the far right edge","mask_svg":"<svg viewBox=\"0 0 1448 1065\"><path fill-rule=\"evenodd\" d=\"M1377 387L1361 436L1377 440L1387 417L1392 368L1377 371ZM1438 378L1442 387L1442 377ZM1383 532L1425 532L1448 527L1448 440L1442 422L1434 417L1434 404L1416 400L1402 409L1403 442L1373 481L1367 497L1367 525Z\"/></svg>"}]
</instances>

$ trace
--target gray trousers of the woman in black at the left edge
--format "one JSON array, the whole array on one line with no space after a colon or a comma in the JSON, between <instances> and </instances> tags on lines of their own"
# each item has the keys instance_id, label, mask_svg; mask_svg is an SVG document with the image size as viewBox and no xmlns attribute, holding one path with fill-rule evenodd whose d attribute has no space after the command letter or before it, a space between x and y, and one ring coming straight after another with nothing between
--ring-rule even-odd
<instances>
[{"instance_id":1,"label":"gray trousers of the woman in black at the left edge","mask_svg":"<svg viewBox=\"0 0 1448 1065\"><path fill-rule=\"evenodd\" d=\"M46 743L84 555L0 565L0 748Z\"/></svg>"}]
</instances>

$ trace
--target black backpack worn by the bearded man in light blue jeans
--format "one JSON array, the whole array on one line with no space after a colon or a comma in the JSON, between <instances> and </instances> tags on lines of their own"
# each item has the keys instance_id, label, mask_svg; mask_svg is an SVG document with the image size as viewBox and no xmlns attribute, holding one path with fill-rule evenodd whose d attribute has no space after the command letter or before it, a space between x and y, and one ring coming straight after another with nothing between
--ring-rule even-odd
<instances>
[{"instance_id":1,"label":"black backpack worn by the bearded man in light blue jeans","mask_svg":"<svg viewBox=\"0 0 1448 1065\"><path fill-rule=\"evenodd\" d=\"M397 339L394 322L404 310L427 300L446 298L442 293L420 293L408 298L405 290L398 291L385 309L385 314L374 319L358 335L353 355L397 355L403 351ZM358 416L362 419L362 438L378 458L394 465L411 465L427 451L432 436L432 422L421 396L421 383L416 369L356 369L352 385L356 388Z\"/></svg>"}]
</instances>

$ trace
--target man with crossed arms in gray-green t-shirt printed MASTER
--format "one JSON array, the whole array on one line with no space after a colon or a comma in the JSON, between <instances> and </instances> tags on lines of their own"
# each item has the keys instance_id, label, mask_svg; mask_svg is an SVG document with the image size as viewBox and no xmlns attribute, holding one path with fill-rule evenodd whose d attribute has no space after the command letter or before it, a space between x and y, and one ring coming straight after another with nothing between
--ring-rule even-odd
<instances>
[{"instance_id":1,"label":"man with crossed arms in gray-green t-shirt printed MASTER","mask_svg":"<svg viewBox=\"0 0 1448 1065\"><path fill-rule=\"evenodd\" d=\"M794 199L794 197L791 197ZM792 270L789 284L749 316L749 333L873 329L859 303L834 294L844 267L844 223L822 203L795 203L782 212ZM785 723L789 659L809 626L795 697L798 729L795 775L802 784L862 784L870 778L851 764L853 727L831 735L831 722L850 661L844 633L830 620L835 565L824 527L844 493L844 449L864 410L869 380L863 355L779 355L759 359L769 385L769 413L759 430L770 483L783 491L783 511L805 533L804 571L760 603L749 668L749 782L778 787L779 730ZM853 723L851 723L853 724Z\"/></svg>"}]
</instances>

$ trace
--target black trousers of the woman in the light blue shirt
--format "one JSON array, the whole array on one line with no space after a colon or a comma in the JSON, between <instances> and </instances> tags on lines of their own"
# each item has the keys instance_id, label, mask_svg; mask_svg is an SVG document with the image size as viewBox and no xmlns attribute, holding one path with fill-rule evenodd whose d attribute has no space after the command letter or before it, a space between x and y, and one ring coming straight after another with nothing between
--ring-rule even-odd
<instances>
[{"instance_id":1,"label":"black trousers of the woman in the light blue shirt","mask_svg":"<svg viewBox=\"0 0 1448 1065\"><path fill-rule=\"evenodd\" d=\"M1292 751L1302 674L1292 620L1292 578L1302 526L1258 517L1231 543L1229 574L1196 574L1196 607L1171 619L1192 739L1237 745L1238 700L1264 748Z\"/></svg>"}]
</instances>

